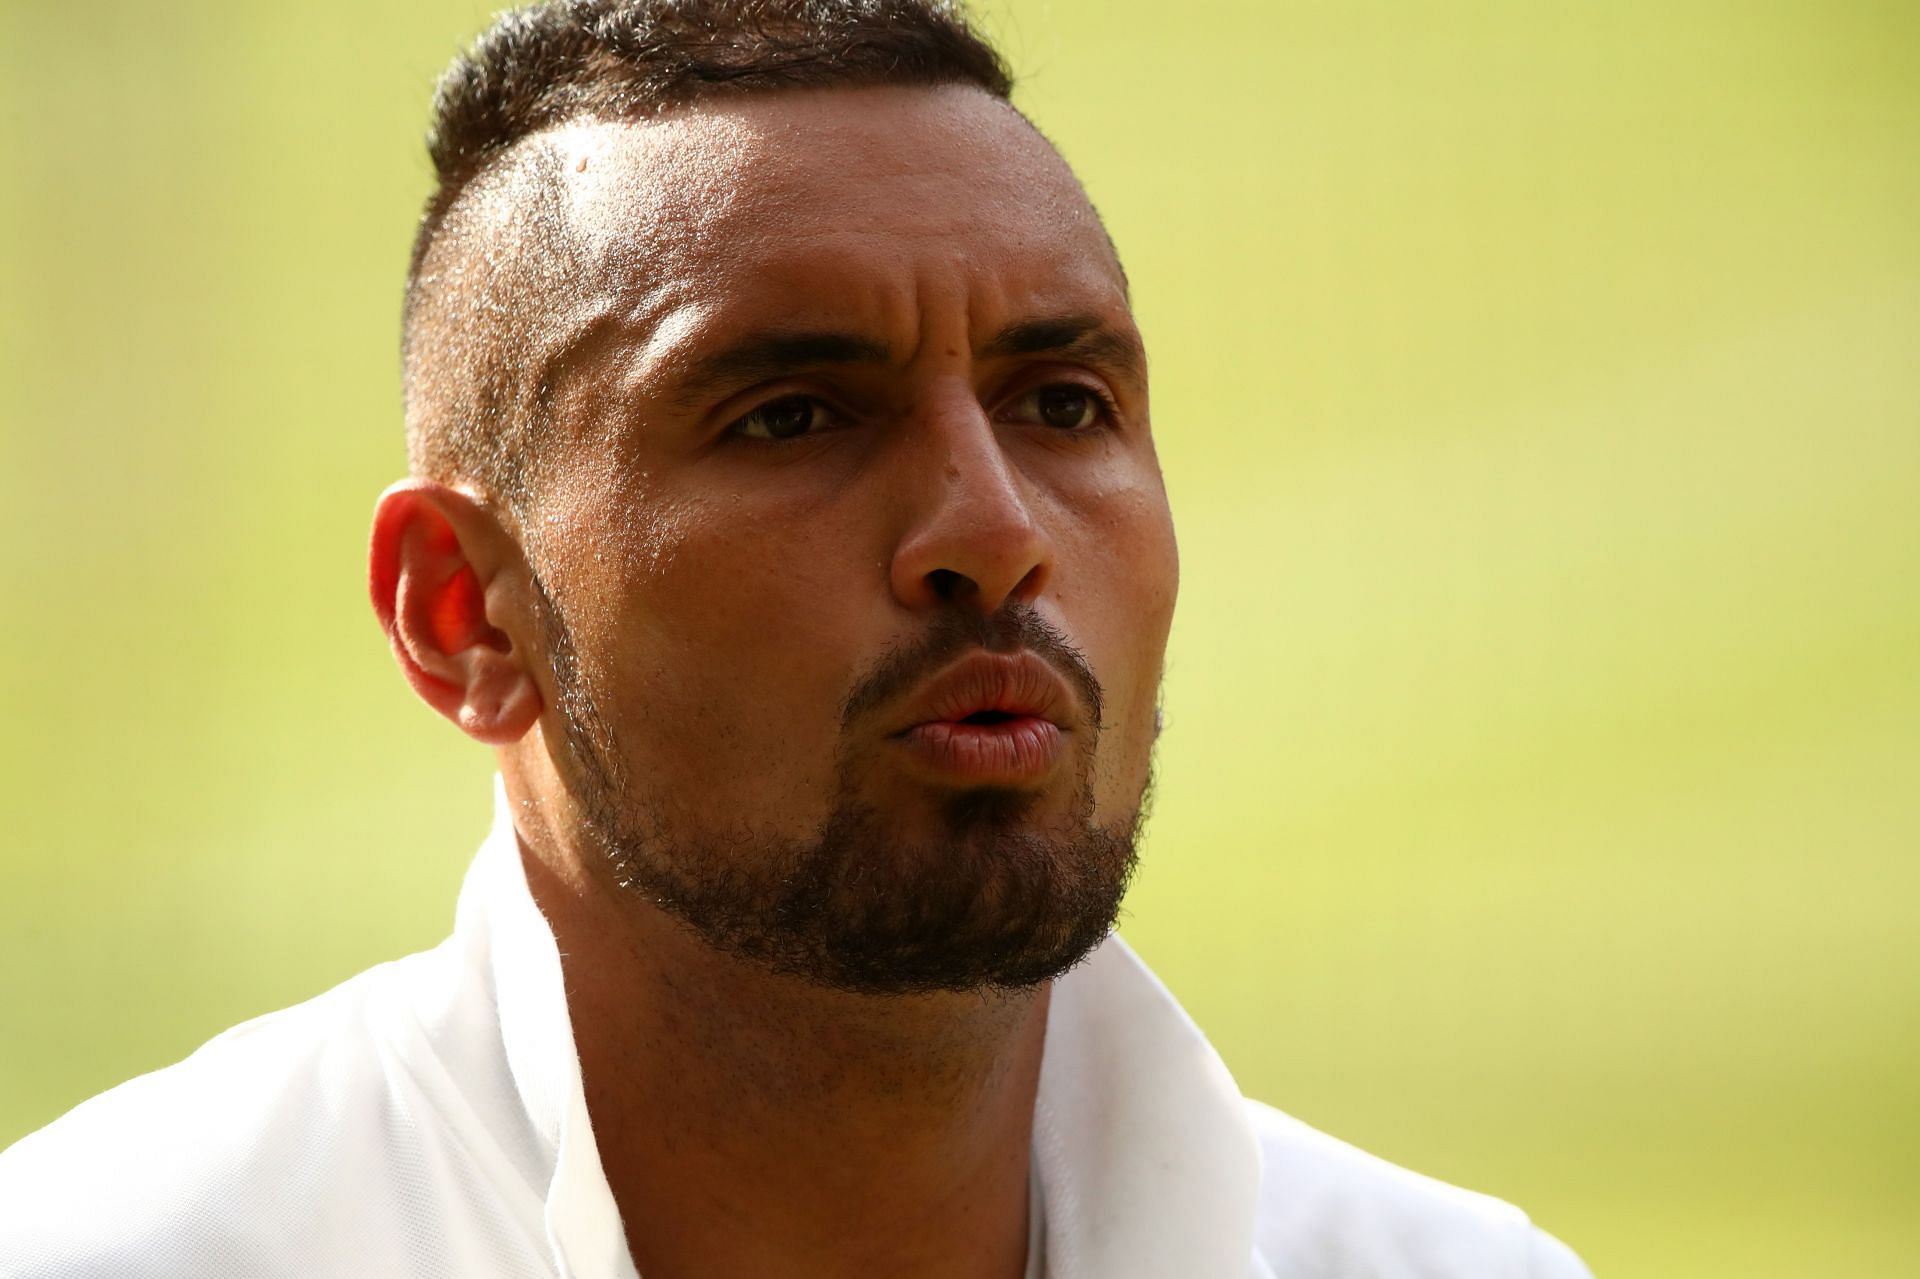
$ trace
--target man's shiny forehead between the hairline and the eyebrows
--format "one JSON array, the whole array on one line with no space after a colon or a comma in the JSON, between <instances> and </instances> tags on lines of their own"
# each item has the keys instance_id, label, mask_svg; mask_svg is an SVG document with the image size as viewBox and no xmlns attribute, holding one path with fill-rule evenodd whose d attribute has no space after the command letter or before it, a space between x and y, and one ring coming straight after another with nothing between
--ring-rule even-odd
<instances>
[{"instance_id":1,"label":"man's shiny forehead between the hairline and the eyebrows","mask_svg":"<svg viewBox=\"0 0 1920 1279\"><path fill-rule=\"evenodd\" d=\"M1066 161L977 88L799 90L547 142L593 311L651 326L766 303L883 325L929 290L995 313L1125 307Z\"/></svg>"}]
</instances>

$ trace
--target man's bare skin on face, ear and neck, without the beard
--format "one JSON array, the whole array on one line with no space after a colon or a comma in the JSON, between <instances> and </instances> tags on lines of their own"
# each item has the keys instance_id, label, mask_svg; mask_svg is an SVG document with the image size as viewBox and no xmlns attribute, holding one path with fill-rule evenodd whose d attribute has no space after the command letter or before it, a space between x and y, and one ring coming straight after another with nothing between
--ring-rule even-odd
<instances>
[{"instance_id":1,"label":"man's bare skin on face, ear and neck, without the beard","mask_svg":"<svg viewBox=\"0 0 1920 1279\"><path fill-rule=\"evenodd\" d=\"M937 847L973 782L841 707L935 613L1010 603L1104 689L1098 724L1062 703L1071 749L1016 782L1021 820L1048 835L1081 801L1129 824L1177 565L1119 267L1052 148L970 88L549 140L593 278L543 346L570 447L526 519L457 482L392 488L372 591L420 697L497 753L634 1260L1018 1277L1048 987L851 995L614 883L534 576L660 830L799 839L851 778L902 847ZM866 353L716 363L770 330Z\"/></svg>"}]
</instances>

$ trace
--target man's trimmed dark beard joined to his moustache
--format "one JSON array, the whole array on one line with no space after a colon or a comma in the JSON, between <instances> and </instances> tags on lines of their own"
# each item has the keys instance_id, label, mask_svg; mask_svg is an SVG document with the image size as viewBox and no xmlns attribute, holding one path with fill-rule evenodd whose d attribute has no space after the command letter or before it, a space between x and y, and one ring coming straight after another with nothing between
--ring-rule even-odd
<instances>
[{"instance_id":1,"label":"man's trimmed dark beard joined to his moustache","mask_svg":"<svg viewBox=\"0 0 1920 1279\"><path fill-rule=\"evenodd\" d=\"M910 649L862 678L851 724L893 693L973 649L1027 647L1081 691L1079 791L1064 818L1031 822L1031 795L979 787L941 810L941 837L904 843L862 805L852 764L808 839L693 839L666 830L637 795L607 720L582 684L566 622L536 576L584 835L620 887L691 928L707 945L806 981L862 995L1033 987L1073 968L1114 928L1137 864L1139 812L1119 830L1092 822L1100 686L1087 661L1031 609L995 618L945 615ZM1144 797L1142 797L1144 799Z\"/></svg>"}]
</instances>

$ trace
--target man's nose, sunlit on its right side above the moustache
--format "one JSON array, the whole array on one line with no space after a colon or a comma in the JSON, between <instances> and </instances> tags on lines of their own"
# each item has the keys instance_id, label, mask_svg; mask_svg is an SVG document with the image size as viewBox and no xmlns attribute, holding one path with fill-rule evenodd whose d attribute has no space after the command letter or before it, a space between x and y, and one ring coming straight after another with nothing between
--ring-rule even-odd
<instances>
[{"instance_id":1,"label":"man's nose, sunlit on its right side above the moustache","mask_svg":"<svg viewBox=\"0 0 1920 1279\"><path fill-rule=\"evenodd\" d=\"M972 390L906 432L900 492L912 499L891 565L908 609L960 605L991 616L1046 590L1054 549L1031 494Z\"/></svg>"}]
</instances>

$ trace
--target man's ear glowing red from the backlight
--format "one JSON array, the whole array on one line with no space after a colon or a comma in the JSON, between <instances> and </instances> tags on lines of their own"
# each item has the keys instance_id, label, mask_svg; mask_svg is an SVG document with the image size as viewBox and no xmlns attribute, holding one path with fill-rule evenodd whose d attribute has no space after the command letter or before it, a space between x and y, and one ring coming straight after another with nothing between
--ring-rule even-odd
<instances>
[{"instance_id":1,"label":"man's ear glowing red from the backlight","mask_svg":"<svg viewBox=\"0 0 1920 1279\"><path fill-rule=\"evenodd\" d=\"M524 653L488 616L513 538L476 499L401 480L372 513L367 588L407 684L463 734L509 745L540 720Z\"/></svg>"}]
</instances>

